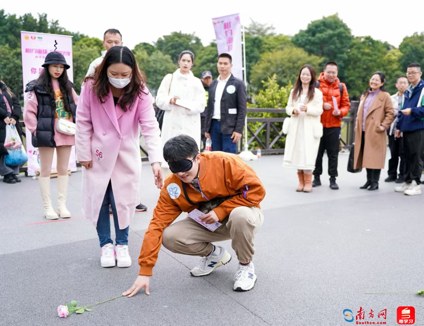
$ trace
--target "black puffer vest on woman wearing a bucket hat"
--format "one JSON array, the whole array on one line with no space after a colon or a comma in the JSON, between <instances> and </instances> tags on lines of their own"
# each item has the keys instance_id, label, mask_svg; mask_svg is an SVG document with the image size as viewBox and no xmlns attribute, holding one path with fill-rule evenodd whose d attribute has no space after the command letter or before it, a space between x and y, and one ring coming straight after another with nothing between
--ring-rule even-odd
<instances>
[{"instance_id":1,"label":"black puffer vest on woman wearing a bucket hat","mask_svg":"<svg viewBox=\"0 0 424 326\"><path fill-rule=\"evenodd\" d=\"M70 86L73 88L74 84L69 81ZM30 81L26 85L25 92L35 92L38 109L37 109L37 128L36 135L32 134L32 145L34 147L56 147L54 141L54 119L56 113L56 103L52 100L50 94L42 89L37 82ZM77 106L74 103L73 97L68 96L69 105L72 113L73 122L75 123L75 114Z\"/></svg>"}]
</instances>

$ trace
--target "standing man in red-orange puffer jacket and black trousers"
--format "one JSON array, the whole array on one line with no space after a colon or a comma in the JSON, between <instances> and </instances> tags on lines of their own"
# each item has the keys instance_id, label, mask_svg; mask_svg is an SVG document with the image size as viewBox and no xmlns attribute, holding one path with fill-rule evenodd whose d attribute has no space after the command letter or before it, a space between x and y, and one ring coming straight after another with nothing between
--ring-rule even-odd
<instances>
[{"instance_id":1,"label":"standing man in red-orange puffer jacket and black trousers","mask_svg":"<svg viewBox=\"0 0 424 326\"><path fill-rule=\"evenodd\" d=\"M323 109L321 123L324 127L323 136L319 144L318 156L315 162L314 181L312 187L321 186L322 158L324 150L328 156L328 174L330 176L330 188L339 189L336 184L337 162L339 155L339 135L342 118L350 109L349 94L346 85L340 83L337 78L339 67L337 63L329 61L324 66L324 72L317 79L317 87L323 95ZM337 103L337 108L335 107Z\"/></svg>"}]
</instances>

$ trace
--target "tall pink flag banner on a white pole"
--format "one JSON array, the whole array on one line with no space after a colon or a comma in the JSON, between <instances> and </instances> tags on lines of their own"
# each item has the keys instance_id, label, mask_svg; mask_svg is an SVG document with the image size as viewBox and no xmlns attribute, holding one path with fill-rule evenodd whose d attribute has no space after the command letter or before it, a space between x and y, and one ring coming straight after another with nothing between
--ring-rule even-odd
<instances>
[{"instance_id":1,"label":"tall pink flag banner on a white pole","mask_svg":"<svg viewBox=\"0 0 424 326\"><path fill-rule=\"evenodd\" d=\"M234 77L243 79L240 14L212 18L212 23L215 29L218 54L228 53L232 56L231 73Z\"/></svg>"}]
</instances>

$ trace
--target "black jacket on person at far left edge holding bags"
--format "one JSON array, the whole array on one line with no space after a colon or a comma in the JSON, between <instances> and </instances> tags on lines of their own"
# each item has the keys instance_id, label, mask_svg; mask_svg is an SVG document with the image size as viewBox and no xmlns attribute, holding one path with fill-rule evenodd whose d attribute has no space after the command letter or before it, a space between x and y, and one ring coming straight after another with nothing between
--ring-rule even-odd
<instances>
[{"instance_id":1,"label":"black jacket on person at far left edge holding bags","mask_svg":"<svg viewBox=\"0 0 424 326\"><path fill-rule=\"evenodd\" d=\"M13 93L13 96L10 96L7 91L7 86L2 82L0 82L0 89L0 156L4 156L8 155L8 152L3 146L6 139L6 123L3 120L6 117L9 117L14 118L18 122L22 114L22 108L16 96ZM8 107L10 108L10 111L8 110Z\"/></svg>"}]
</instances>

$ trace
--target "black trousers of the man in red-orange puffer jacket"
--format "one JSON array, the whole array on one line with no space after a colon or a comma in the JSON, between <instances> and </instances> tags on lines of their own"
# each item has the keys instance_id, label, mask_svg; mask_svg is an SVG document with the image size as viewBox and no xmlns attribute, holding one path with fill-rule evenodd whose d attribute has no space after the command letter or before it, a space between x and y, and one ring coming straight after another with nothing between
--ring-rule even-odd
<instances>
[{"instance_id":1,"label":"black trousers of the man in red-orange puffer jacket","mask_svg":"<svg viewBox=\"0 0 424 326\"><path fill-rule=\"evenodd\" d=\"M324 151L327 151L328 157L328 175L337 177L337 164L339 157L339 135L340 127L324 128L321 140L319 142L318 156L315 162L314 176L322 174L322 158Z\"/></svg>"}]
</instances>

